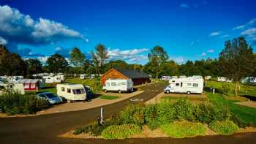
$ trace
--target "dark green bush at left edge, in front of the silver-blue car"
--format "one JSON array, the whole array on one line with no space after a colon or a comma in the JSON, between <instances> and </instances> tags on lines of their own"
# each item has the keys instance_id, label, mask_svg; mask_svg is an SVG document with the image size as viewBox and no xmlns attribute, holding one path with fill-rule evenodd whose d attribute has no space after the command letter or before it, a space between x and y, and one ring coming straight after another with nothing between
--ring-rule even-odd
<instances>
[{"instance_id":1,"label":"dark green bush at left edge, in front of the silver-blue car","mask_svg":"<svg viewBox=\"0 0 256 144\"><path fill-rule=\"evenodd\" d=\"M22 95L15 91L6 91L0 96L0 109L8 115L31 114L49 107L48 101L34 95Z\"/></svg>"}]
</instances>

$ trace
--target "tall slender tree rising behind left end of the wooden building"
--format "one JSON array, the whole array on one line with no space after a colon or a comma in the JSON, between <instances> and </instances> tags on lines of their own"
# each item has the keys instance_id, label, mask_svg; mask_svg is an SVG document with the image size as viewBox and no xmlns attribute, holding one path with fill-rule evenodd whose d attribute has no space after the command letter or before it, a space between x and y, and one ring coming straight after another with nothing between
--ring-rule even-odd
<instances>
[{"instance_id":1,"label":"tall slender tree rising behind left end of the wooden building","mask_svg":"<svg viewBox=\"0 0 256 144\"><path fill-rule=\"evenodd\" d=\"M105 45L102 44L98 44L95 50L95 53L91 52L91 57L97 74L100 74L103 72L105 62L108 59L108 50Z\"/></svg>"}]
</instances>

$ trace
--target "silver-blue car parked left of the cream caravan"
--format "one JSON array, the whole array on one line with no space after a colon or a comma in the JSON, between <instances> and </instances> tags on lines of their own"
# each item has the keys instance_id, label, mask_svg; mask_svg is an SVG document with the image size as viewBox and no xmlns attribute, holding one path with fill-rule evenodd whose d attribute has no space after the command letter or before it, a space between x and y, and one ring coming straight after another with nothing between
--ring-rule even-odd
<instances>
[{"instance_id":1,"label":"silver-blue car parked left of the cream caravan","mask_svg":"<svg viewBox=\"0 0 256 144\"><path fill-rule=\"evenodd\" d=\"M46 99L50 105L55 105L63 102L60 96L57 96L56 94L53 94L51 92L42 92L37 94L37 97L41 99Z\"/></svg>"}]
</instances>

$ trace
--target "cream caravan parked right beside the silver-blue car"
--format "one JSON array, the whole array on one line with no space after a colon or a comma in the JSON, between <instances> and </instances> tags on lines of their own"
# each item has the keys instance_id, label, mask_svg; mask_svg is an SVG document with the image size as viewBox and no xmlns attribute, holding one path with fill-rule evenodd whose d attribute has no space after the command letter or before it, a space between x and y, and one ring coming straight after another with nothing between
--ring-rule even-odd
<instances>
[{"instance_id":1,"label":"cream caravan parked right beside the silver-blue car","mask_svg":"<svg viewBox=\"0 0 256 144\"><path fill-rule=\"evenodd\" d=\"M57 84L57 94L68 101L86 100L86 88L82 84Z\"/></svg>"}]
</instances>

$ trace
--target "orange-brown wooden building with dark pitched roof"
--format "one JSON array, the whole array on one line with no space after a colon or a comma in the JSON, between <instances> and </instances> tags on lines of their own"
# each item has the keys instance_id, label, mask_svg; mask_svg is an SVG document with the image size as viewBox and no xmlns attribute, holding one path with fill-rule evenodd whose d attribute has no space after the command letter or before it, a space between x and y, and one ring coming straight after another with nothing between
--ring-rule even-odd
<instances>
[{"instance_id":1,"label":"orange-brown wooden building with dark pitched roof","mask_svg":"<svg viewBox=\"0 0 256 144\"><path fill-rule=\"evenodd\" d=\"M105 84L105 81L108 79L132 79L135 86L151 82L150 77L146 73L131 69L110 69L100 77L100 81L102 84Z\"/></svg>"}]
</instances>

